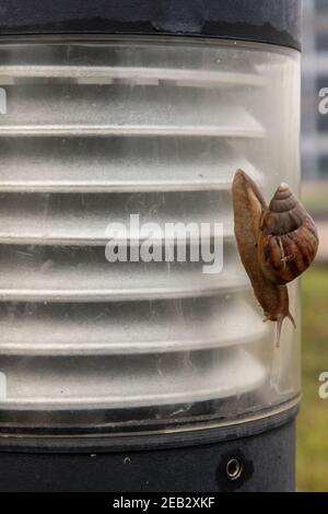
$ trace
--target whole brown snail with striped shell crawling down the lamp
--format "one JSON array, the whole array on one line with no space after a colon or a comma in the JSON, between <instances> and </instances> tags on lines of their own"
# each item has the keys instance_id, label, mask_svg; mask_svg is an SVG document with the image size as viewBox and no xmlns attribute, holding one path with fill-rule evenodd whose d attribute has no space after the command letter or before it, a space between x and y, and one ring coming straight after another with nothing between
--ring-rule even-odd
<instances>
[{"instance_id":1,"label":"whole brown snail with striped shell crawling down the lamp","mask_svg":"<svg viewBox=\"0 0 328 514\"><path fill-rule=\"evenodd\" d=\"M277 322L277 346L289 308L286 284L315 259L318 234L313 219L289 186L280 184L267 206L258 186L242 170L232 185L238 253L263 309L265 322Z\"/></svg>"}]
</instances>

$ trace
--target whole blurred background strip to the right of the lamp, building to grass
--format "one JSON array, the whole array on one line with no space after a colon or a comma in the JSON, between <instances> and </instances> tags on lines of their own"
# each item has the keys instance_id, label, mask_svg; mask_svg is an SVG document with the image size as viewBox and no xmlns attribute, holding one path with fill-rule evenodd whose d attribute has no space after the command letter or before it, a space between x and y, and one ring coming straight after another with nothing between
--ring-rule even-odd
<instances>
[{"instance_id":1,"label":"whole blurred background strip to the right of the lamp, building to grass","mask_svg":"<svg viewBox=\"0 0 328 514\"><path fill-rule=\"evenodd\" d=\"M302 279L303 400L297 421L297 490L328 491L328 399L318 376L328 372L328 0L303 1L302 198L320 237L316 264Z\"/></svg>"}]
</instances>

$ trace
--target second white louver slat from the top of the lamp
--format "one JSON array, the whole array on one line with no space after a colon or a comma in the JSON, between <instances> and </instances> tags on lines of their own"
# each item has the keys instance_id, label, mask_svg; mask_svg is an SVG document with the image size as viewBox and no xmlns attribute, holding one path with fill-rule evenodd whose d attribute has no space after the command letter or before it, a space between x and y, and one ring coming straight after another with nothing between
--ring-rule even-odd
<instances>
[{"instance_id":1,"label":"second white louver slat from the top of the lamp","mask_svg":"<svg viewBox=\"0 0 328 514\"><path fill-rule=\"evenodd\" d=\"M9 85L2 136L263 137L261 125L221 91L127 85ZM191 106L197 105L197 109Z\"/></svg>"}]
</instances>

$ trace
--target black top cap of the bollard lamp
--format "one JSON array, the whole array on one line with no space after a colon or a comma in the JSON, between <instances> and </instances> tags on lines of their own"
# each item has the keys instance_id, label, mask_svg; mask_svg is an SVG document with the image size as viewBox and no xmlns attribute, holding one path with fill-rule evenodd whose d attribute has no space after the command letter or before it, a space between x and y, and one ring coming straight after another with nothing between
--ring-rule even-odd
<instances>
[{"instance_id":1,"label":"black top cap of the bollard lamp","mask_svg":"<svg viewBox=\"0 0 328 514\"><path fill-rule=\"evenodd\" d=\"M0 35L184 35L301 48L301 0L0 0Z\"/></svg>"}]
</instances>

